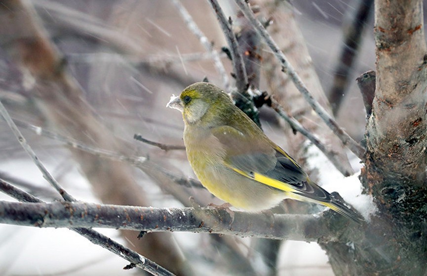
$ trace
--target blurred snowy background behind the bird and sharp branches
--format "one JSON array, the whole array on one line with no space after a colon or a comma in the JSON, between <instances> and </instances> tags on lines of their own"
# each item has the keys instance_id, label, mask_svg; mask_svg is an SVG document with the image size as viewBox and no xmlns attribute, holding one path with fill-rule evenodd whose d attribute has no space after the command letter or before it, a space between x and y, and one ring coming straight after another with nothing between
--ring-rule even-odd
<instances>
[{"instance_id":1,"label":"blurred snowy background behind the bird and sharp branches","mask_svg":"<svg viewBox=\"0 0 427 276\"><path fill-rule=\"evenodd\" d=\"M206 190L176 184L173 177L195 179L185 151L164 151L133 139L134 134L141 134L143 138L162 144L183 145L182 117L176 110L165 107L169 97L205 77L209 82L223 86L212 58L189 30L172 1L23 1L25 8L35 12L25 16L32 18L32 24L39 24L36 29L57 47L56 54L65 68L66 80L72 83L69 87L63 85L63 81L56 80L53 81L55 86L45 86L43 81L46 80L41 74L41 77L32 77L31 73L34 75L34 72L28 63L16 58L16 46L10 46L10 34L4 29L18 28L13 20L7 18L10 11L7 7L19 1L1 2L6 8L0 8L3 23L3 28L0 28L0 99L11 116L24 123L20 126L23 135L52 175L72 195L89 202L155 207L189 206L190 196L204 205L221 203ZM230 76L232 63L221 51L227 42L209 2L181 2L214 49L219 51L233 85ZM238 7L234 1L219 2L227 16L236 21ZM304 57L303 63L314 68L321 86L319 89L326 96L330 95L334 74L342 63L340 54L346 47L345 35L360 5L369 1L290 1L291 5L287 1L281 2L254 1L260 5L259 18L270 19L269 28L284 30L283 35L278 32L275 36L282 36L288 42L293 40L285 35L289 25L281 25L281 22L286 21L286 16L294 18L310 53L310 56ZM277 5L276 9L272 8L274 5ZM286 8L281 5L286 5ZM274 12L269 14L269 11ZM341 105L334 110L339 124L356 141L363 138L366 113L355 78L375 68L372 8L369 14L362 24L364 28L358 29L361 40L349 69L348 87L340 98ZM31 32L22 34L16 30L13 33L19 39L32 36ZM286 45L283 47L286 54ZM272 57L272 53L264 48L263 61ZM35 51L27 58L43 59L43 56L43 52ZM271 91L269 84L271 76L266 73L268 64L261 62L259 65L259 89L276 93ZM298 69L298 65L295 66ZM48 90L51 94L43 94ZM85 111L81 111L81 106L67 96L60 100L61 104L71 105L71 113L67 113L67 108L58 102L49 102L53 98L59 101L56 97L61 90L76 93L78 100L87 104ZM286 94L285 87L279 86L277 90ZM292 102L289 104L292 105ZM55 110L55 107L58 109ZM291 109L288 110L292 112ZM85 113L88 110L90 115ZM260 113L264 131L288 150L289 127L268 107L262 107ZM81 117L74 119L70 114ZM77 127L73 125L75 122L80 122L76 123ZM68 148L61 140L38 135L28 124L117 154L145 157L150 162L135 168L126 163L97 161L99 157L87 159L87 154ZM80 131L81 126L84 127ZM98 128L103 133L99 135L102 142L94 138L94 130L98 131ZM109 137L108 141L103 140L106 137ZM350 159L354 161L351 156ZM105 181L109 179L112 168L120 169L122 177L109 185ZM0 177L43 200L59 199L2 120ZM138 198L134 198L135 194L139 194L136 196ZM12 200L1 193L0 198ZM280 241L272 244L255 238L176 232L144 242L150 237L139 241L131 238L136 237L135 232L101 231L126 243L131 249L141 249L140 243L151 244L141 250L148 250L148 257L154 261L159 258L158 263L169 264L169 269L179 275L333 275L325 253L315 243ZM1 275L141 273L122 270L127 264L124 260L70 230L0 225L0 233ZM165 248L170 251L165 251ZM172 257L162 259L162 256L158 256L166 255L165 252L172 252Z\"/></svg>"}]
</instances>

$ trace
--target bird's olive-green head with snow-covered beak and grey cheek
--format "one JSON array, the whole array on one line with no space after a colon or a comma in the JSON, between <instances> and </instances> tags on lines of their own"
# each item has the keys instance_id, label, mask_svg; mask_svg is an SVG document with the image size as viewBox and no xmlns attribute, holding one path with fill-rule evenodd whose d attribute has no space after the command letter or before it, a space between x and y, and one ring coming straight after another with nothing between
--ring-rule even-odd
<instances>
[{"instance_id":1,"label":"bird's olive-green head with snow-covered beak and grey cheek","mask_svg":"<svg viewBox=\"0 0 427 276\"><path fill-rule=\"evenodd\" d=\"M184 89L178 97L172 96L166 106L181 111L186 124L194 124L205 115L212 119L222 114L221 111L230 105L233 102L224 91L212 84L200 82Z\"/></svg>"}]
</instances>

